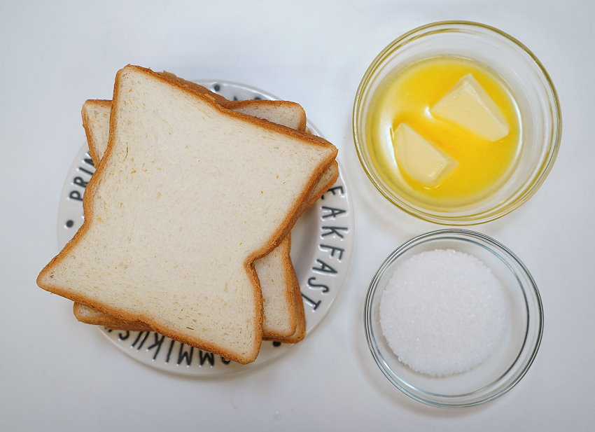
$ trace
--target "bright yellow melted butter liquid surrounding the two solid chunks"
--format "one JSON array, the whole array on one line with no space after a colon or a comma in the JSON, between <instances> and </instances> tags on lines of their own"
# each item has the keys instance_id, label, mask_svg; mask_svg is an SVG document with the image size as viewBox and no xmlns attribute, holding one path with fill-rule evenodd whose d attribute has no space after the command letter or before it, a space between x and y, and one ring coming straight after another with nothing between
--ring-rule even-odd
<instances>
[{"instance_id":1,"label":"bright yellow melted butter liquid surrounding the two solid chunks","mask_svg":"<svg viewBox=\"0 0 595 432\"><path fill-rule=\"evenodd\" d=\"M433 107L440 106L437 103L469 74L486 99L491 99L490 106L498 111L498 118L505 124L504 137L486 138L470 130L470 122L465 127L465 122L456 123L433 113ZM465 110L459 110L459 116L461 112ZM472 112L469 118L471 123L475 121ZM366 122L368 151L384 182L423 207L463 207L484 199L507 179L519 154L521 122L510 91L482 64L461 57L430 57L385 78L372 97ZM438 149L437 154L454 161L444 170L447 174L437 177L437 181L419 181L419 177L407 173L407 167L395 155L400 125L405 125L401 130L414 130L410 133L423 137ZM423 159L428 153L415 155ZM421 164L423 170L426 162L414 162L416 169ZM427 163L428 172L435 169L435 165L429 166L435 160L428 158Z\"/></svg>"}]
</instances>

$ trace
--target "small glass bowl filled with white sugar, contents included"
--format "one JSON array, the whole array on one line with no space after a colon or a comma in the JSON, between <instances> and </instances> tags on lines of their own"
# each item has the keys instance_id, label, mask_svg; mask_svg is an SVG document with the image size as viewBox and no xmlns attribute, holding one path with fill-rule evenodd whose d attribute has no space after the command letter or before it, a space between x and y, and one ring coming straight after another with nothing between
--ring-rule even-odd
<instances>
[{"instance_id":1,"label":"small glass bowl filled with white sugar, contents included","mask_svg":"<svg viewBox=\"0 0 595 432\"><path fill-rule=\"evenodd\" d=\"M400 391L435 407L498 398L537 354L543 311L535 281L496 240L428 232L393 251L365 299L365 335Z\"/></svg>"}]
</instances>

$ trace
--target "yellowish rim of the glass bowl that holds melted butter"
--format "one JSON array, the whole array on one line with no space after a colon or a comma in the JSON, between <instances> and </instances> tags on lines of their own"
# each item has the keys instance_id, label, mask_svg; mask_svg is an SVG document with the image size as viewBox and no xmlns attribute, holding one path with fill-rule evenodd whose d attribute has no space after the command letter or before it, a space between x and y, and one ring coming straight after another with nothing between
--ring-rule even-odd
<instances>
[{"instance_id":1,"label":"yellowish rim of the glass bowl that holds melted butter","mask_svg":"<svg viewBox=\"0 0 595 432\"><path fill-rule=\"evenodd\" d=\"M447 214L440 214L433 211L426 211L425 209L419 208L419 206L414 206L409 204L407 200L402 200L396 193L391 193L386 186L384 186L384 182L379 179L379 176L375 174L375 169L370 166L372 164L368 164L365 160L365 151L364 151L364 144L363 139L360 140L360 127L358 122L360 120L361 112L363 110L363 95L365 92L369 90L370 86L370 79L372 78L374 72L377 70L381 64L383 64L386 59L388 58L388 54L398 50L400 46L404 46L409 41L419 39L423 36L428 34L433 34L433 30L438 29L440 27L444 27L443 31L447 30L455 30L455 29L481 29L483 31L487 30L495 34L496 36L503 38L512 43L512 45L517 46L520 48L521 51L528 55L528 58L533 62L533 64L537 67L538 74L543 78L543 84L545 85L545 89L547 90L547 102L549 104L549 108L552 115L552 127L551 130L547 131L547 154L545 155L544 160L541 161L540 167L536 174L530 177L530 181L528 181L523 188L521 188L520 193L518 193L517 198L509 202L505 200L503 203L500 202L489 209L486 209L479 213L468 212L469 214L464 214L462 216L447 216ZM356 91L356 97L353 102L353 110L352 110L352 121L351 121L351 129L353 132L353 141L356 147L356 153L358 155L358 159L360 161L360 165L363 167L363 170L374 185L377 190L383 195L386 200L391 202L393 205L405 211L406 213L415 216L416 218L420 218L423 221L428 221L432 223L439 223L442 225L451 225L451 226L460 226L460 225L478 225L481 223L486 223L489 221L494 221L498 218L509 214L514 209L517 209L522 204L524 204L529 198L531 198L537 190L540 188L542 183L547 178L547 175L552 170L554 166L554 162L556 161L556 157L559 151L559 147L561 144L561 137L562 137L562 116L561 116L561 107L558 94L556 92L556 88L554 86L554 82L552 78L547 73L547 70L540 62L538 57L527 47L524 43L521 43L518 39L514 38L510 34L503 32L496 27L492 27L490 25L483 24L481 22L474 22L474 21L465 21L465 20L446 20L446 21L437 21L431 22L426 25L421 25L416 27L409 32L398 36L398 38L388 43L380 53L374 57L374 60L370 63L370 66L367 67L365 74L361 78L361 81L358 85L358 90Z\"/></svg>"}]
</instances>

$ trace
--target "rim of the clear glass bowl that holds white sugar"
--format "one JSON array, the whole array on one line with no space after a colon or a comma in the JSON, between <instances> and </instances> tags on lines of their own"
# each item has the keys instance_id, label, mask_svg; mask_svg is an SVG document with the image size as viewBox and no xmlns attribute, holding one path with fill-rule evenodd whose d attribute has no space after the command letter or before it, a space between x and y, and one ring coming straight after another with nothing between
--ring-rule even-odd
<instances>
[{"instance_id":1,"label":"rim of the clear glass bowl that holds white sugar","mask_svg":"<svg viewBox=\"0 0 595 432\"><path fill-rule=\"evenodd\" d=\"M458 236L458 237L451 237L451 236ZM379 352L379 349L377 347L377 337L382 337L382 335L381 334L375 335L374 332L372 331L372 300L374 299L375 295L381 295L381 292L378 291L379 279L381 279L381 277L384 275L386 270L388 270L388 268L391 267L391 265L393 265L396 262L396 260L398 260L398 258L402 255L402 253L405 253L405 251L409 251L410 249L412 249L412 247L418 246L420 244L425 244L428 241L440 240L440 239L454 239L457 241L461 241L461 240L471 241L476 246L481 246L481 247L486 248L486 246L484 246L483 244L477 244L477 240L480 240L482 242L486 242L489 245L489 248L486 248L486 249L488 249L490 252L494 253L493 251L495 250L495 251L500 251L500 252L504 253L505 256L507 256L507 258L510 258L512 261L514 261L514 263L516 263L519 266L519 272L524 274L524 276L526 277L526 279L528 281L527 286L521 286L521 284L519 282L518 288L522 289L524 291L525 298L531 297L531 300L533 300L533 302L535 302L535 308L536 308L536 312L537 312L536 314L530 315L528 310L526 311L527 318L528 318L527 324L526 324L527 328L529 326L531 326L531 321L533 321L533 326L535 326L537 329L537 332L535 335L535 340L530 345L528 345L527 340L525 340L525 342L522 344L521 348L519 349L517 356L514 358L514 361L512 362L512 364L508 365L507 370L510 370L514 365L516 365L519 362L520 363L525 362L525 364L522 366L522 368L520 368L519 370L514 372L514 374L512 375L512 379L510 379L510 382L508 382L507 385L503 386L503 388L499 389L495 393L487 393L486 396L482 396L481 398L477 398L475 400L470 400L468 402L462 402L462 403L458 403L456 401L449 403L447 401L442 400L444 398L449 397L448 395L442 395L442 394L438 394L438 393L430 393L428 391L423 391L423 389L419 389L416 386L413 386L412 384L409 384L408 382L405 382L405 380L401 379L399 377L399 375L396 372L394 372L393 369L388 365L384 356L382 356ZM508 264L506 264L506 265L507 265L507 267L509 267L509 270L511 270L510 265L508 265ZM527 303L526 309L528 309L528 302L529 302L529 300L527 299L526 300L526 303ZM532 320L531 320L531 317L533 317ZM541 295L540 295L538 286L535 283L535 280L533 279L531 272L528 271L528 268L526 267L526 265L524 265L524 263L521 261L521 259L514 252L512 252L509 248L507 248L507 246L501 244L496 239L493 239L492 237L489 237L488 235L484 235L480 232L464 230L461 228L445 228L442 230L425 232L421 235L418 235L416 237L413 237L412 239L407 240L407 242L401 244L396 249L394 249L391 253L389 253L388 256L382 261L381 265L379 265L377 271L374 273L374 276L372 277L372 279L370 281L370 285L367 288L367 292L365 295L365 302L364 302L363 321L364 321L364 332L365 332L365 339L367 342L367 347L368 347L368 349L370 349L370 353L372 354L372 358L374 358L374 362L376 363L378 368L381 370L382 374L388 379L388 381L391 382L391 384L393 384L393 386L395 386L397 389L399 389L402 393L409 396L409 398L417 400L418 402L424 403L426 405L430 405L433 407L440 407L440 408L463 408L463 407L472 407L472 406L476 406L476 405L483 405L484 403L487 403L490 400L499 398L500 396L503 396L505 393L510 391L510 389L512 389L514 386L516 386L521 381L522 377L524 377L524 375L529 370L529 368L531 368L531 365L533 364L533 361L535 360L535 356L537 356L537 353L540 348L542 335L543 335L543 327L544 327L543 305L542 305ZM521 358L521 355L523 353L524 353L524 357ZM505 374L500 375L500 377L498 377L498 379L491 382L487 386L484 386L479 389L475 389L468 393L464 393L463 395L454 395L454 396L450 396L450 397L469 396L474 393L486 391L486 389L490 389L490 388L493 388L494 386L497 386L497 384L504 377L505 377ZM417 390L418 392L416 393L414 390ZM419 393L428 395L428 397L420 396ZM437 398L431 399L429 396L437 396L442 399L441 400L438 400Z\"/></svg>"}]
</instances>

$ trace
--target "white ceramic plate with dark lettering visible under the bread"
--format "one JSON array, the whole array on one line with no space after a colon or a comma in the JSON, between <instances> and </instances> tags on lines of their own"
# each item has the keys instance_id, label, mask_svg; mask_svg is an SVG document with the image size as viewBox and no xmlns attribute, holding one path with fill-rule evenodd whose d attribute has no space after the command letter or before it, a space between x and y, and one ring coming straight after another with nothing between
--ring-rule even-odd
<instances>
[{"instance_id":1,"label":"white ceramic plate with dark lettering visible under the bread","mask_svg":"<svg viewBox=\"0 0 595 432\"><path fill-rule=\"evenodd\" d=\"M196 82L228 99L279 99L238 83L214 80ZM310 122L307 127L312 133L321 136ZM60 248L83 224L83 193L93 172L93 163L85 144L69 169L60 197ZM339 174L335 185L297 221L291 243L291 257L302 288L307 333L311 333L330 309L349 270L353 249L353 209L342 174ZM98 328L116 347L141 363L183 375L220 375L246 370L279 357L292 347L292 344L264 341L256 361L239 365L159 333ZM307 337L300 343L307 343Z\"/></svg>"}]
</instances>

